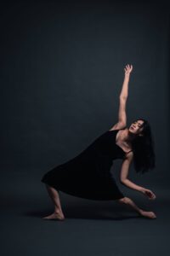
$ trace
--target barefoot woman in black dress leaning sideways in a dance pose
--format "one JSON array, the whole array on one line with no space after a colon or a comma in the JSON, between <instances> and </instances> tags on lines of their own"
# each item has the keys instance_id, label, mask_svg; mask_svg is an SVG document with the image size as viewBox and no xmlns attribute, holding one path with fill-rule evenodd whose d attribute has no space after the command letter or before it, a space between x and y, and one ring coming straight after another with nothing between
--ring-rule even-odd
<instances>
[{"instance_id":1,"label":"barefoot woman in black dress leaning sideways in a dance pose","mask_svg":"<svg viewBox=\"0 0 170 256\"><path fill-rule=\"evenodd\" d=\"M139 191L150 200L156 195L128 179L128 171L133 162L136 172L147 172L155 167L155 153L150 125L145 119L137 119L127 126L126 102L130 73L133 66L124 68L125 76L119 96L118 122L97 137L88 148L66 163L54 167L42 177L48 195L54 203L54 212L45 219L64 220L59 201L59 190L91 200L114 200L132 207L144 218L156 218L154 212L144 211L117 187L111 174L113 160L122 159L120 181L130 189Z\"/></svg>"}]
</instances>

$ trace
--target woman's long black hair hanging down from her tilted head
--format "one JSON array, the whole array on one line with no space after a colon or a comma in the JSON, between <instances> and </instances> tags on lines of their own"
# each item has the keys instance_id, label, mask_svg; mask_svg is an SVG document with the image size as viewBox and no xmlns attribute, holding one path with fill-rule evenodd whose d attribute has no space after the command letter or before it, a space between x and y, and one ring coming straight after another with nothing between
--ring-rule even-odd
<instances>
[{"instance_id":1,"label":"woman's long black hair hanging down from her tilted head","mask_svg":"<svg viewBox=\"0 0 170 256\"><path fill-rule=\"evenodd\" d=\"M150 129L150 124L143 120L142 136L137 136L132 141L133 166L136 172L148 172L156 167L155 143Z\"/></svg>"}]
</instances>

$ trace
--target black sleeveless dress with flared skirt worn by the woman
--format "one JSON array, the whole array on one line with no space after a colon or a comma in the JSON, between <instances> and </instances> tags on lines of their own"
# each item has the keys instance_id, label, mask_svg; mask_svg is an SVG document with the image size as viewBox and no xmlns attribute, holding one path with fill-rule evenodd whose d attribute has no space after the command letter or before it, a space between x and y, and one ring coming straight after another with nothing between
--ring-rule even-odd
<instances>
[{"instance_id":1,"label":"black sleeveless dress with flared skirt worn by the woman","mask_svg":"<svg viewBox=\"0 0 170 256\"><path fill-rule=\"evenodd\" d=\"M41 182L66 194L90 200L124 197L111 174L113 161L123 159L126 154L116 144L116 134L120 130L105 131L75 158L45 173Z\"/></svg>"}]
</instances>

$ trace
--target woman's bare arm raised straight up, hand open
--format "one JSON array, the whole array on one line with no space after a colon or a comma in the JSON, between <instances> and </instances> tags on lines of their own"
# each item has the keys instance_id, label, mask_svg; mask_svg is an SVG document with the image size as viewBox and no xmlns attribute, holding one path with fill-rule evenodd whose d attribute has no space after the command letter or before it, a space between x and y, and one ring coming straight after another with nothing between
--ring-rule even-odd
<instances>
[{"instance_id":1,"label":"woman's bare arm raised straight up, hand open","mask_svg":"<svg viewBox=\"0 0 170 256\"><path fill-rule=\"evenodd\" d=\"M130 73L133 70L133 66L131 67L127 64L124 68L124 80L122 84L122 90L119 96L119 111L118 111L118 122L116 125L112 127L112 129L122 129L127 125L127 114L126 114L126 103L127 103L127 96L128 96L128 82L130 78Z\"/></svg>"}]
</instances>

